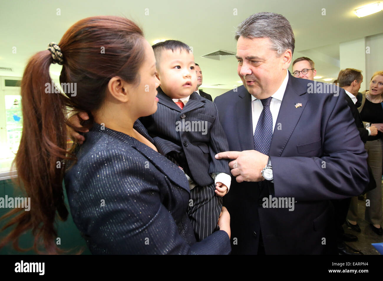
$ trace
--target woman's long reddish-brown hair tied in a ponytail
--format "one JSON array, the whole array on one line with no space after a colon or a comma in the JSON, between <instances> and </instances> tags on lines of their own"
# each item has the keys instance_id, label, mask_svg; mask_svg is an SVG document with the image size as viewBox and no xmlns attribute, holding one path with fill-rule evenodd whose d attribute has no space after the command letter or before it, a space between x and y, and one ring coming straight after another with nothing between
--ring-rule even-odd
<instances>
[{"instance_id":1,"label":"woman's long reddish-brown hair tied in a ponytail","mask_svg":"<svg viewBox=\"0 0 383 281\"><path fill-rule=\"evenodd\" d=\"M66 220L62 180L65 160L73 159L66 149L67 108L87 112L87 124L93 123L92 112L104 98L109 80L119 76L128 83L139 83L138 71L144 60L143 33L132 21L116 16L95 16L78 21L65 32L59 47L64 62L60 83L76 83L72 96L63 93L45 93L51 83L49 66L51 52L44 50L30 58L21 81L23 133L14 165L18 183L31 198L31 210L15 209L3 216L11 218L3 227L14 226L1 241L0 249L31 229L35 237L33 249L41 253L57 253L56 211ZM49 39L47 40L47 44ZM105 52L102 52L105 50ZM58 162L61 168L57 168ZM20 213L19 213L20 212Z\"/></svg>"}]
</instances>

